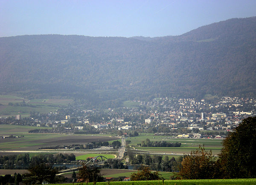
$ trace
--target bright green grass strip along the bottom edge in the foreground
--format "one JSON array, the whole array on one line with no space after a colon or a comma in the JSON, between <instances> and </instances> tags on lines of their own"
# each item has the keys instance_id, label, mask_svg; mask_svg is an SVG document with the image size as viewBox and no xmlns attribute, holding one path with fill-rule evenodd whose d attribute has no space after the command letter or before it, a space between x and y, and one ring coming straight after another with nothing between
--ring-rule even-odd
<instances>
[{"instance_id":1,"label":"bright green grass strip along the bottom edge in the foreground","mask_svg":"<svg viewBox=\"0 0 256 185\"><path fill-rule=\"evenodd\" d=\"M75 183L75 185L94 185L95 183ZM224 184L256 184L256 179L198 179L198 180L154 180L126 182L97 182L97 185L224 185ZM61 184L61 185L71 185Z\"/></svg>"}]
</instances>

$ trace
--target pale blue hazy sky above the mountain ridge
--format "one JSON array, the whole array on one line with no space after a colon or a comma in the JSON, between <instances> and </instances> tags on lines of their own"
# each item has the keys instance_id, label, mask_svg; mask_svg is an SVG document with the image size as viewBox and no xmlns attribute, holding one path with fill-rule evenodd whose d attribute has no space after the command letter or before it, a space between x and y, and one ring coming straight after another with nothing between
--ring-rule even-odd
<instances>
[{"instance_id":1,"label":"pale blue hazy sky above the mountain ridge","mask_svg":"<svg viewBox=\"0 0 256 185\"><path fill-rule=\"evenodd\" d=\"M157 37L253 16L256 0L0 0L0 37Z\"/></svg>"}]
</instances>

